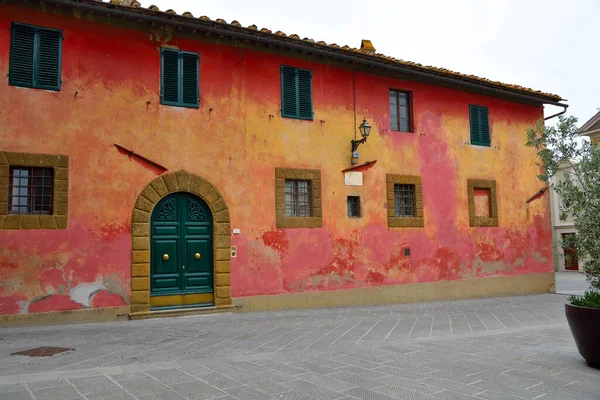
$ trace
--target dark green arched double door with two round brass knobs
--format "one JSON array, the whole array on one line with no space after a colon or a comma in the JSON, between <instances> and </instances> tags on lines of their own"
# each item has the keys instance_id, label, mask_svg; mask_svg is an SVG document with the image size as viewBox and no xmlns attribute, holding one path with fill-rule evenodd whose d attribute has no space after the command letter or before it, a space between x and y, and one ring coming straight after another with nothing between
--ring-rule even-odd
<instances>
[{"instance_id":1,"label":"dark green arched double door with two round brass knobs","mask_svg":"<svg viewBox=\"0 0 600 400\"><path fill-rule=\"evenodd\" d=\"M212 215L189 193L173 193L151 220L150 289L153 307L213 304Z\"/></svg>"}]
</instances>

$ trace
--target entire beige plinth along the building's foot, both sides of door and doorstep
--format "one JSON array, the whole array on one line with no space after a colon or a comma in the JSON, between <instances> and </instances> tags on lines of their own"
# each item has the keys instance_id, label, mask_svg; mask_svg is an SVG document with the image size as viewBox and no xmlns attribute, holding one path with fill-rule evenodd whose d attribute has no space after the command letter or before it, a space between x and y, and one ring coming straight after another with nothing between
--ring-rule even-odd
<instances>
[{"instance_id":1,"label":"entire beige plinth along the building's foot, both sides of door and doorstep","mask_svg":"<svg viewBox=\"0 0 600 400\"><path fill-rule=\"evenodd\" d=\"M235 312L267 310L299 310L383 304L418 303L436 300L457 300L478 297L497 297L548 293L554 289L554 272L490 278L410 283L360 289L328 290L278 294L271 296L237 297L233 299ZM129 313L129 306L90 308L85 310L48 313L0 315L0 326L59 325L105 322L156 317L174 317L190 314L230 312L231 306L205 309L181 309Z\"/></svg>"}]
</instances>

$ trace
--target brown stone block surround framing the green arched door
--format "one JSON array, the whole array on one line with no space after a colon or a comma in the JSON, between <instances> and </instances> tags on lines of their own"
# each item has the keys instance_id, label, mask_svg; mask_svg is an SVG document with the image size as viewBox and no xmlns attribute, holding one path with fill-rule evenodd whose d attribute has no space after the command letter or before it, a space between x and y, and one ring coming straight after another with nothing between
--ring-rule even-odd
<instances>
[{"instance_id":1,"label":"brown stone block surround framing the green arched door","mask_svg":"<svg viewBox=\"0 0 600 400\"><path fill-rule=\"evenodd\" d=\"M175 192L195 194L210 207L214 221L215 308L232 308L229 209L221 193L210 182L179 170L154 179L135 202L131 218L130 315L150 312L150 218L154 206Z\"/></svg>"}]
</instances>

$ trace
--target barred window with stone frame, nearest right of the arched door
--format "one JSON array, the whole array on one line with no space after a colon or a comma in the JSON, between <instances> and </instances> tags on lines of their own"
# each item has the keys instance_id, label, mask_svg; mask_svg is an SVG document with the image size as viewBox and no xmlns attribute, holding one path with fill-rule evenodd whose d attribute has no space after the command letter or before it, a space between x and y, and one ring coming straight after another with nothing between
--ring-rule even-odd
<instances>
[{"instance_id":1,"label":"barred window with stone frame, nearest right of the arched door","mask_svg":"<svg viewBox=\"0 0 600 400\"><path fill-rule=\"evenodd\" d=\"M321 171L275 168L277 228L320 228Z\"/></svg>"}]
</instances>

